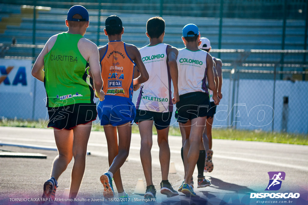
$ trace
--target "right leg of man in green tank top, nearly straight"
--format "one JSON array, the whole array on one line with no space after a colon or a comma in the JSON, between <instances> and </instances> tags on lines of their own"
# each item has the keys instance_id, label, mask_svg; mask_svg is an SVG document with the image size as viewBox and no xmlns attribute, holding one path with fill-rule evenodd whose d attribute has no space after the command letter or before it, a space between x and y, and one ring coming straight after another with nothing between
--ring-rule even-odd
<instances>
[{"instance_id":1,"label":"right leg of man in green tank top, nearly straight","mask_svg":"<svg viewBox=\"0 0 308 205\"><path fill-rule=\"evenodd\" d=\"M92 122L73 128L74 165L71 173L70 198L76 198L86 168L87 144Z\"/></svg>"}]
</instances>

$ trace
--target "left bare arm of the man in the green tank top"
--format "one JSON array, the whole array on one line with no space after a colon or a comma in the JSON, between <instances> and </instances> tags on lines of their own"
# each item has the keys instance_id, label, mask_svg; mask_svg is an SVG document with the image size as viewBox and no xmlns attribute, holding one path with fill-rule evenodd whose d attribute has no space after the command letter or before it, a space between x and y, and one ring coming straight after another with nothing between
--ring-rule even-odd
<instances>
[{"instance_id":1,"label":"left bare arm of the man in the green tank top","mask_svg":"<svg viewBox=\"0 0 308 205\"><path fill-rule=\"evenodd\" d=\"M33 65L31 74L33 77L35 77L39 81L44 82L44 77L45 77L45 72L43 70L44 69L44 56L51 50L52 46L55 45L57 36L58 34L49 38L49 40L45 44L43 50L41 51L41 53L39 54L39 56L37 57Z\"/></svg>"}]
</instances>

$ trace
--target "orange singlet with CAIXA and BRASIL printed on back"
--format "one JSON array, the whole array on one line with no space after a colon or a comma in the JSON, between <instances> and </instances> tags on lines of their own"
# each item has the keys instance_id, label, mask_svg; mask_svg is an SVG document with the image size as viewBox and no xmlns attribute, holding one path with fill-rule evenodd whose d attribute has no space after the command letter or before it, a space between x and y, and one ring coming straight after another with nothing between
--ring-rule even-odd
<instances>
[{"instance_id":1,"label":"orange singlet with CAIXA and BRASIL printed on back","mask_svg":"<svg viewBox=\"0 0 308 205\"><path fill-rule=\"evenodd\" d=\"M110 41L101 61L105 95L132 99L135 63L126 52L123 41Z\"/></svg>"}]
</instances>

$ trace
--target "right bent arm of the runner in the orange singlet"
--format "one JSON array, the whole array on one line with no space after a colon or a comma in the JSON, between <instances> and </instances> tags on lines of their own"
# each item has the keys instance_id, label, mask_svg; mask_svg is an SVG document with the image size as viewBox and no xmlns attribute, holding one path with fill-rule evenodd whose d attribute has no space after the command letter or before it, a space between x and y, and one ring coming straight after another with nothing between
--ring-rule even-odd
<instances>
[{"instance_id":1,"label":"right bent arm of the runner in the orange singlet","mask_svg":"<svg viewBox=\"0 0 308 205\"><path fill-rule=\"evenodd\" d=\"M147 69L145 68L143 61L141 60L141 54L135 45L132 44L125 44L125 45L129 57L132 59L132 61L135 62L140 71L140 76L134 79L133 84L138 85L144 83L149 79L149 74Z\"/></svg>"}]
</instances>

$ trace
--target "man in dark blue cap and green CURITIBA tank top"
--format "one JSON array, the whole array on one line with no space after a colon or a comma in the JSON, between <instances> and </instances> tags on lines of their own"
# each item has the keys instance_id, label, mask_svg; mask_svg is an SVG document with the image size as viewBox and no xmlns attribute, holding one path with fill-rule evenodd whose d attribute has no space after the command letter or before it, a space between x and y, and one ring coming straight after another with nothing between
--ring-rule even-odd
<instances>
[{"instance_id":1,"label":"man in dark blue cap and green CURITIBA tank top","mask_svg":"<svg viewBox=\"0 0 308 205\"><path fill-rule=\"evenodd\" d=\"M89 76L96 96L104 99L97 46L83 37L89 14L83 6L73 6L65 21L67 32L52 36L34 63L32 75L44 82L49 115L59 155L44 183L42 198L54 200L58 178L74 157L69 198L77 196L86 166L87 143L97 111ZM89 112L88 112L89 111ZM46 200L45 200L46 201Z\"/></svg>"}]
</instances>

